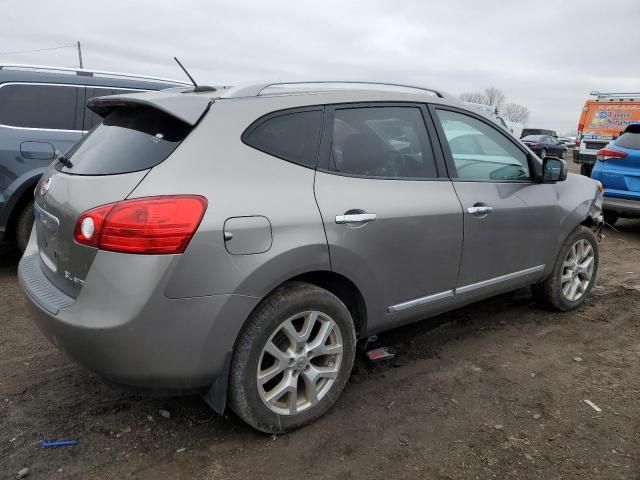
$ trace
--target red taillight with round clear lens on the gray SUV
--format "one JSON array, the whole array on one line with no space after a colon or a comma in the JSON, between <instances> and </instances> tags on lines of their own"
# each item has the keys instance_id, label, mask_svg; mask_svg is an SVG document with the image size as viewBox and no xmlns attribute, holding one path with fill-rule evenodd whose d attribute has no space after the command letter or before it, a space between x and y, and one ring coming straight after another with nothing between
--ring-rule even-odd
<instances>
[{"instance_id":1,"label":"red taillight with round clear lens on the gray SUV","mask_svg":"<svg viewBox=\"0 0 640 480\"><path fill-rule=\"evenodd\" d=\"M183 253L206 209L207 199L197 195L124 200L80 215L74 238L112 252Z\"/></svg>"}]
</instances>

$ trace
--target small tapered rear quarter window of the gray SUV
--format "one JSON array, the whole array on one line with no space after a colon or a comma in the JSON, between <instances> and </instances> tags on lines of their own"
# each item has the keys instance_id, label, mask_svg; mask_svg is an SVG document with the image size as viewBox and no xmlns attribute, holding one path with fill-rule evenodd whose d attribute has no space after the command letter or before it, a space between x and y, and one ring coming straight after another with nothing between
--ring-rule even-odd
<instances>
[{"instance_id":1,"label":"small tapered rear quarter window of the gray SUV","mask_svg":"<svg viewBox=\"0 0 640 480\"><path fill-rule=\"evenodd\" d=\"M244 142L274 157L315 168L322 111L284 113L249 129Z\"/></svg>"}]
</instances>

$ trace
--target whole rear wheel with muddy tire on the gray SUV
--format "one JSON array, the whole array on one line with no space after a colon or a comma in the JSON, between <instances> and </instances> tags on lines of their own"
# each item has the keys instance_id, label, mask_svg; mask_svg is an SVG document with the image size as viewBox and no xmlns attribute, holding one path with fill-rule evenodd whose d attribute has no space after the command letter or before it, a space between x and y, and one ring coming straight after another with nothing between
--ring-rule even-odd
<instances>
[{"instance_id":1,"label":"whole rear wheel with muddy tire on the gray SUV","mask_svg":"<svg viewBox=\"0 0 640 480\"><path fill-rule=\"evenodd\" d=\"M338 297L308 283L285 284L262 301L239 335L229 405L266 433L313 422L346 385L355 344L351 315Z\"/></svg>"}]
</instances>

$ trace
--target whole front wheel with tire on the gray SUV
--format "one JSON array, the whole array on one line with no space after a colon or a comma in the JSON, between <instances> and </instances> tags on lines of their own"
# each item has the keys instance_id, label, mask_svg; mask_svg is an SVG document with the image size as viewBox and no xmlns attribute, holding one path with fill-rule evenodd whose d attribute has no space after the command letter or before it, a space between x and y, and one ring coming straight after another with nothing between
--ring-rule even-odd
<instances>
[{"instance_id":1,"label":"whole front wheel with tire on the gray SUV","mask_svg":"<svg viewBox=\"0 0 640 480\"><path fill-rule=\"evenodd\" d=\"M551 275L533 285L536 301L566 312L582 305L591 293L598 273L598 240L580 225L565 240Z\"/></svg>"}]
</instances>

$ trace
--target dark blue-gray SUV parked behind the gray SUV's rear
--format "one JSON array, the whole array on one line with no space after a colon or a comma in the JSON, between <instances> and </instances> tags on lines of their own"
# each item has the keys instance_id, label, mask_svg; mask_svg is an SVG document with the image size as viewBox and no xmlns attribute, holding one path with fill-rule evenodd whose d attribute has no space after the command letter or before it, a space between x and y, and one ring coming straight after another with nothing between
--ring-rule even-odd
<instances>
[{"instance_id":1,"label":"dark blue-gray SUV parked behind the gray SUV's rear","mask_svg":"<svg viewBox=\"0 0 640 480\"><path fill-rule=\"evenodd\" d=\"M24 250L40 175L101 120L85 107L88 99L180 85L125 73L0 65L0 242L13 240Z\"/></svg>"}]
</instances>

